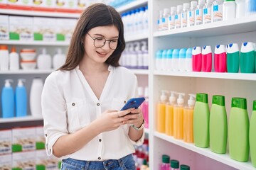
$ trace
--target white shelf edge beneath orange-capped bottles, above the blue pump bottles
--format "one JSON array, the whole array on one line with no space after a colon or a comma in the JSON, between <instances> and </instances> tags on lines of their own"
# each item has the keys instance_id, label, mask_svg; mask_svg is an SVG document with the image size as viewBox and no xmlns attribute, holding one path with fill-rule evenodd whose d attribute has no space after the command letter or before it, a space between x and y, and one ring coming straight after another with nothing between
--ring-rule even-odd
<instances>
[{"instance_id":1,"label":"white shelf edge beneath orange-capped bottles, above the blue pump bottles","mask_svg":"<svg viewBox=\"0 0 256 170\"><path fill-rule=\"evenodd\" d=\"M50 74L53 72L53 69L29 69L29 70L8 70L8 71L0 71L0 74Z\"/></svg>"}]
</instances>

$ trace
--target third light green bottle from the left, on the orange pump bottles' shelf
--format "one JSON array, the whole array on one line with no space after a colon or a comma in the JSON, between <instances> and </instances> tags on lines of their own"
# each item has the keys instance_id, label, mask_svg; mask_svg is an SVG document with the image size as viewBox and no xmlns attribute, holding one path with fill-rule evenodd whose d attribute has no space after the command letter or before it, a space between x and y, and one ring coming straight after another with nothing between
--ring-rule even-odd
<instances>
[{"instance_id":1,"label":"third light green bottle from the left, on the orange pump bottles' shelf","mask_svg":"<svg viewBox=\"0 0 256 170\"><path fill-rule=\"evenodd\" d=\"M228 124L230 158L247 162L249 157L249 116L246 98L232 98Z\"/></svg>"}]
</instances>

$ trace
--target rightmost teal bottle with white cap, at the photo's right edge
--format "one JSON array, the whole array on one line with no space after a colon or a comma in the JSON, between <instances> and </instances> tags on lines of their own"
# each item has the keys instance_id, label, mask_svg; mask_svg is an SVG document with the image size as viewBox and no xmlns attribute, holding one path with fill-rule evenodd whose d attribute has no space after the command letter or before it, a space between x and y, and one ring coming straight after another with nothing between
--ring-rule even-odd
<instances>
[{"instance_id":1,"label":"rightmost teal bottle with white cap, at the photo's right edge","mask_svg":"<svg viewBox=\"0 0 256 170\"><path fill-rule=\"evenodd\" d=\"M255 72L255 50L252 42L243 42L240 52L241 73Z\"/></svg>"}]
</instances>

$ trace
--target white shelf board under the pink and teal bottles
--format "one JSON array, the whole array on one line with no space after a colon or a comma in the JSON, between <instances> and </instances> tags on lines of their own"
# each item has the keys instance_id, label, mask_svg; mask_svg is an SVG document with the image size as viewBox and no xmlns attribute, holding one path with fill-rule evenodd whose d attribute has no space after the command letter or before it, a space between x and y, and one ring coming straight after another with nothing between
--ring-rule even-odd
<instances>
[{"instance_id":1,"label":"white shelf board under the pink and teal bottles","mask_svg":"<svg viewBox=\"0 0 256 170\"><path fill-rule=\"evenodd\" d=\"M198 77L213 79L238 79L256 81L256 74L245 73L220 73L220 72L166 72L154 71L154 75L159 76L176 76L176 77Z\"/></svg>"}]
</instances>

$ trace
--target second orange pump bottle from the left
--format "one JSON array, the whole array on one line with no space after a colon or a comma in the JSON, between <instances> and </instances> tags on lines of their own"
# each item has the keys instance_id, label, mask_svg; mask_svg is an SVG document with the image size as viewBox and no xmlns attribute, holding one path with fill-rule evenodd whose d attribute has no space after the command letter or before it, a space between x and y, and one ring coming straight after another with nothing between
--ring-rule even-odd
<instances>
[{"instance_id":1,"label":"second orange pump bottle from the left","mask_svg":"<svg viewBox=\"0 0 256 170\"><path fill-rule=\"evenodd\" d=\"M171 91L169 103L166 104L166 135L174 135L174 105L176 103L175 91Z\"/></svg>"}]
</instances>

